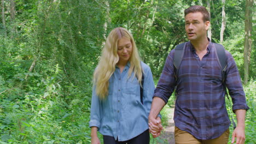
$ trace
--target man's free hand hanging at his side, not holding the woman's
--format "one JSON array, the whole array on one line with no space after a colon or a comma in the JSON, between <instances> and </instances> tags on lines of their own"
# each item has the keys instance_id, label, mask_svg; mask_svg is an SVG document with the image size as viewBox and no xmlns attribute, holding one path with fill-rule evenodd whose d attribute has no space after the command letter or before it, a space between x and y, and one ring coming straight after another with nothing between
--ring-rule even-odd
<instances>
[{"instance_id":1,"label":"man's free hand hanging at his side, not holding the woman's","mask_svg":"<svg viewBox=\"0 0 256 144\"><path fill-rule=\"evenodd\" d=\"M236 127L232 133L232 142L235 142L236 137L236 144L243 144L245 143L245 127Z\"/></svg>"}]
</instances>

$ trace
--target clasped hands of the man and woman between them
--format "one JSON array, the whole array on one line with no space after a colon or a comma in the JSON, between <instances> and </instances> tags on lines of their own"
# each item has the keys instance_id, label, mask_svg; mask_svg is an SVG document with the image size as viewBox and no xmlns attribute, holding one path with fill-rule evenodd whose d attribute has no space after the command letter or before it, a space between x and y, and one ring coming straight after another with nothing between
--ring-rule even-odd
<instances>
[{"instance_id":1,"label":"clasped hands of the man and woman between them","mask_svg":"<svg viewBox=\"0 0 256 144\"><path fill-rule=\"evenodd\" d=\"M162 130L162 123L160 117L155 118L148 118L148 125L149 125L149 132L152 136L158 137L161 134Z\"/></svg>"}]
</instances>

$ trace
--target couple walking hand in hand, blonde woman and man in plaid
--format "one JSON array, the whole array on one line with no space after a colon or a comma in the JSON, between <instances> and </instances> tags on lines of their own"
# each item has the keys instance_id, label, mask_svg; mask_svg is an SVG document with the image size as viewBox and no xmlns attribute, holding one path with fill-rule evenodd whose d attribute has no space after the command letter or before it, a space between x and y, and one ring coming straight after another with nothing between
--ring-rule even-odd
<instances>
[{"instance_id":1,"label":"couple walking hand in hand, blonde woman and man in plaid","mask_svg":"<svg viewBox=\"0 0 256 144\"><path fill-rule=\"evenodd\" d=\"M132 34L113 29L106 40L94 72L91 100L91 143L148 144L149 133L162 130L160 111L176 88L174 110L176 143L228 143L229 117L225 107L225 87L232 98L237 127L232 143L245 142L246 104L240 75L228 51L225 80L219 67L216 44L207 38L210 16L205 7L185 9L185 31L189 41L183 46L178 70L174 52L167 56L155 88L150 67L143 63ZM224 82L223 82L224 81Z\"/></svg>"}]
</instances>

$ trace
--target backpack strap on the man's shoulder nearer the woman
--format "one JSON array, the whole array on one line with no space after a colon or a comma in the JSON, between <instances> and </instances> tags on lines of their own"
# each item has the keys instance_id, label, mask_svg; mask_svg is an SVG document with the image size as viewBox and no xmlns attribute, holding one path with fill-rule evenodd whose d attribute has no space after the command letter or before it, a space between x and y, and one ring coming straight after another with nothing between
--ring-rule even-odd
<instances>
[{"instance_id":1,"label":"backpack strap on the man's shoulder nearer the woman","mask_svg":"<svg viewBox=\"0 0 256 144\"><path fill-rule=\"evenodd\" d=\"M184 56L184 46L185 46L185 43L179 44L175 47L175 51L174 51L173 65L176 69L175 71L176 80L178 78L177 74L179 70L179 65L181 65L181 62Z\"/></svg>"}]
</instances>

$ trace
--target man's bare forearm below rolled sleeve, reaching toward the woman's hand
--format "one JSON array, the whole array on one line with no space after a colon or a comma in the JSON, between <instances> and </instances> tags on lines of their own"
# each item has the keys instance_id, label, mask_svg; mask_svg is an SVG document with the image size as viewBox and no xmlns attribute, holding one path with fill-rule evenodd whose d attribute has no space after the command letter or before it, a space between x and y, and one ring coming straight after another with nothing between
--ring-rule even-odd
<instances>
[{"instance_id":1,"label":"man's bare forearm below rolled sleeve, reaching toward the woman's hand","mask_svg":"<svg viewBox=\"0 0 256 144\"><path fill-rule=\"evenodd\" d=\"M149 118L156 118L158 116L158 113L162 110L162 107L165 106L165 101L161 98L154 97L149 113Z\"/></svg>"}]
</instances>

